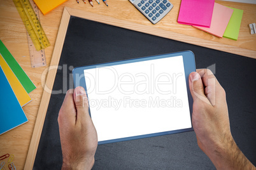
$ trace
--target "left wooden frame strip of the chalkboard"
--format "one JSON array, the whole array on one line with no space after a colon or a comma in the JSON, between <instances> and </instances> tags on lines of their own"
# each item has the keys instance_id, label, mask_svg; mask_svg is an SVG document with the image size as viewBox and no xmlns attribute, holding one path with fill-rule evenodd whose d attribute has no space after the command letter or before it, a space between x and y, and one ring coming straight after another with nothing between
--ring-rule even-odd
<instances>
[{"instance_id":1,"label":"left wooden frame strip of the chalkboard","mask_svg":"<svg viewBox=\"0 0 256 170\"><path fill-rule=\"evenodd\" d=\"M32 134L31 144L29 146L29 152L27 153L27 159L24 169L32 169L34 166L34 159L36 158L36 152L38 150L38 144L41 137L43 124L45 122L45 115L47 112L48 103L50 101L50 96L52 94L52 87L55 80L57 67L59 65L60 55L64 44L66 32L68 29L69 18L70 15L68 10L64 9L60 22L59 32L57 35L57 41L55 42L55 48L52 54L52 61L50 63L49 69L45 70L44 72L45 74L47 74L46 83L43 86L43 96L41 98L38 116L36 117L36 124L34 125L34 131Z\"/></svg>"}]
</instances>

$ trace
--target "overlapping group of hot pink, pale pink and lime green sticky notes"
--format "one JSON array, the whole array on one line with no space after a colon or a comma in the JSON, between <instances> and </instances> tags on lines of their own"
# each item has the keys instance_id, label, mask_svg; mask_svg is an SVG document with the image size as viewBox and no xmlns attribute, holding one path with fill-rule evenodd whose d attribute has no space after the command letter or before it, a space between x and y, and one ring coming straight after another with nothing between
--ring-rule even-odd
<instances>
[{"instance_id":1,"label":"overlapping group of hot pink, pale pink and lime green sticky notes","mask_svg":"<svg viewBox=\"0 0 256 170\"><path fill-rule=\"evenodd\" d=\"M215 0L182 0L178 23L213 34L238 39L243 10L215 3Z\"/></svg>"}]
</instances>

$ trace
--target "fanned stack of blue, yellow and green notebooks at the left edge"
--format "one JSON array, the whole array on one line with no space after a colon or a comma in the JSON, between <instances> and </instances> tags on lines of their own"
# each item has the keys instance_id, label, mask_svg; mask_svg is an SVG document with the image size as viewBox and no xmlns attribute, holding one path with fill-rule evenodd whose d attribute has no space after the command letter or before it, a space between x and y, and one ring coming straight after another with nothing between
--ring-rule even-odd
<instances>
[{"instance_id":1,"label":"fanned stack of blue, yellow and green notebooks at the left edge","mask_svg":"<svg viewBox=\"0 0 256 170\"><path fill-rule=\"evenodd\" d=\"M0 40L0 134L27 122L22 107L31 101L33 82Z\"/></svg>"}]
</instances>

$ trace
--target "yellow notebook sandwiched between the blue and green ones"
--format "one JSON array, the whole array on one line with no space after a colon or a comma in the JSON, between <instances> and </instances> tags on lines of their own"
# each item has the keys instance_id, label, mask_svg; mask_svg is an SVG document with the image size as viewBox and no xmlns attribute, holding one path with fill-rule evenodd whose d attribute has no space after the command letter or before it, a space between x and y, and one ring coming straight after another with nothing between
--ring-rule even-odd
<instances>
[{"instance_id":1,"label":"yellow notebook sandwiched between the blue and green ones","mask_svg":"<svg viewBox=\"0 0 256 170\"><path fill-rule=\"evenodd\" d=\"M23 88L20 81L18 81L17 77L15 76L13 71L10 69L9 65L5 62L1 53L0 53L0 65L4 71L5 76L8 79L8 82L10 83L11 88L13 89L13 92L15 93L15 96L18 99L18 103L20 103L20 105L23 107L24 105L29 103L29 101L31 101L31 98Z\"/></svg>"}]
</instances>

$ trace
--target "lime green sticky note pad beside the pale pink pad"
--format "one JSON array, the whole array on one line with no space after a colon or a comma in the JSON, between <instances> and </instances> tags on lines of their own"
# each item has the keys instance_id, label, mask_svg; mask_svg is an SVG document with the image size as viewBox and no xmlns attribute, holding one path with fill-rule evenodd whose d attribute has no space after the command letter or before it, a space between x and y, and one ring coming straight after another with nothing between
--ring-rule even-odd
<instances>
[{"instance_id":1,"label":"lime green sticky note pad beside the pale pink pad","mask_svg":"<svg viewBox=\"0 0 256 170\"><path fill-rule=\"evenodd\" d=\"M229 7L229 6L227 6ZM229 7L231 8L231 7ZM243 17L243 10L236 8L231 8L233 11L229 24L224 32L223 37L238 40L238 34L240 30L240 25Z\"/></svg>"}]
</instances>

